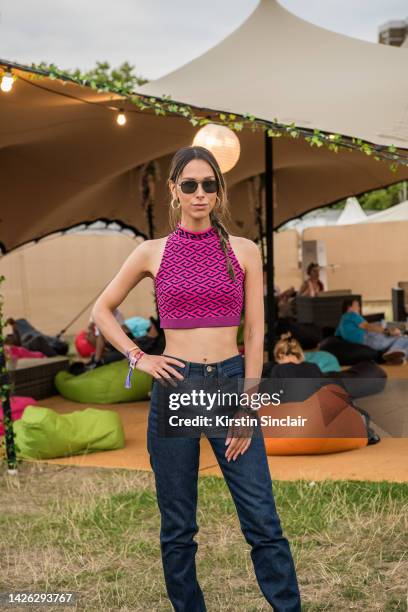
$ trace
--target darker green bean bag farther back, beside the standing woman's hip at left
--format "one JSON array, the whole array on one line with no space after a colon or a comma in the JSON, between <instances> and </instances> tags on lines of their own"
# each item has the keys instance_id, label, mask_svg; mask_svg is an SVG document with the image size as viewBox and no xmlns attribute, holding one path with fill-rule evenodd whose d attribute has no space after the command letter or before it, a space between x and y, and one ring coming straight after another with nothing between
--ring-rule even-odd
<instances>
[{"instance_id":1,"label":"darker green bean bag farther back, beside the standing woman's hip at left","mask_svg":"<svg viewBox=\"0 0 408 612\"><path fill-rule=\"evenodd\" d=\"M54 384L63 397L83 404L116 404L148 399L153 377L133 370L132 387L125 388L128 361L115 361L74 376L66 370L58 372Z\"/></svg>"}]
</instances>

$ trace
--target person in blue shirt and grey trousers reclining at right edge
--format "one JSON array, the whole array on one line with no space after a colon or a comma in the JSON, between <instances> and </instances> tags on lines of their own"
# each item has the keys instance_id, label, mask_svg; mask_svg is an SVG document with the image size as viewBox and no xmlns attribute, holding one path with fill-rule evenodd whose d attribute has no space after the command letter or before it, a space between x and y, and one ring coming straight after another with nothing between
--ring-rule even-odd
<instances>
[{"instance_id":1,"label":"person in blue shirt and grey trousers reclining at right edge","mask_svg":"<svg viewBox=\"0 0 408 612\"><path fill-rule=\"evenodd\" d=\"M387 331L379 323L369 323L361 315L360 302L347 298L343 302L342 317L335 335L347 342L363 344L376 351L384 351L383 359L390 365L402 365L408 354L408 338L401 337L396 327Z\"/></svg>"}]
</instances>

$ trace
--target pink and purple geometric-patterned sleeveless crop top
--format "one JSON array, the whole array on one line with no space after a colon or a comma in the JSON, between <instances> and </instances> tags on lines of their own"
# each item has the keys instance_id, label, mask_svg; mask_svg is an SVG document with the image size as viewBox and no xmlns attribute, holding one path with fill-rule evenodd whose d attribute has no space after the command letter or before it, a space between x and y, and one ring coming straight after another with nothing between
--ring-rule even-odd
<instances>
[{"instance_id":1,"label":"pink and purple geometric-patterned sleeveless crop top","mask_svg":"<svg viewBox=\"0 0 408 612\"><path fill-rule=\"evenodd\" d=\"M169 234L155 280L163 329L239 325L244 304L244 277L230 242L227 250L235 273L211 226L193 232L177 224Z\"/></svg>"}]
</instances>

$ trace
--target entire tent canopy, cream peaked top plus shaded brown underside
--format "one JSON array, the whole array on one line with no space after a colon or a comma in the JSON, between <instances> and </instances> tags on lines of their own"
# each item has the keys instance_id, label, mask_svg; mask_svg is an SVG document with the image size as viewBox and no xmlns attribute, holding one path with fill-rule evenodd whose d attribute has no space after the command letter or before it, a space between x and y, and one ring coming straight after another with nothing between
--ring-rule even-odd
<instances>
[{"instance_id":1,"label":"entire tent canopy, cream peaked top plus shaded brown underside","mask_svg":"<svg viewBox=\"0 0 408 612\"><path fill-rule=\"evenodd\" d=\"M12 62L0 61L3 67ZM249 112L408 148L406 54L307 23L275 0L262 0L249 19L186 66L140 88L202 109ZM197 128L175 115L156 116L117 94L46 77L18 77L0 94L0 250L98 219L149 235L141 199L143 164L157 160L155 236L168 232L166 178L174 152ZM128 115L125 127L115 108ZM115 111L116 113L116 111ZM405 114L404 114L405 113ZM201 112L203 116L206 110ZM227 174L231 233L259 235L250 205L252 177L265 170L261 131L238 133L241 156ZM408 179L408 166L362 152L311 147L303 138L273 139L274 224L349 195ZM254 199L254 198L252 198ZM264 207L265 209L265 207ZM3 230L3 231L1 231Z\"/></svg>"}]
</instances>

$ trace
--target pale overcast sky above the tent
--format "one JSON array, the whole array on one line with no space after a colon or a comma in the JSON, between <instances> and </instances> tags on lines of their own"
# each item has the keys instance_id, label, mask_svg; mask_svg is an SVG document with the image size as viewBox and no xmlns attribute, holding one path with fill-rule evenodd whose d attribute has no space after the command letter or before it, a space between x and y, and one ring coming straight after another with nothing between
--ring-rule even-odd
<instances>
[{"instance_id":1,"label":"pale overcast sky above the tent","mask_svg":"<svg viewBox=\"0 0 408 612\"><path fill-rule=\"evenodd\" d=\"M302 19L377 42L378 27L408 19L407 0L279 0ZM157 79L201 55L245 21L258 0L0 0L0 58L63 69L119 66Z\"/></svg>"}]
</instances>

